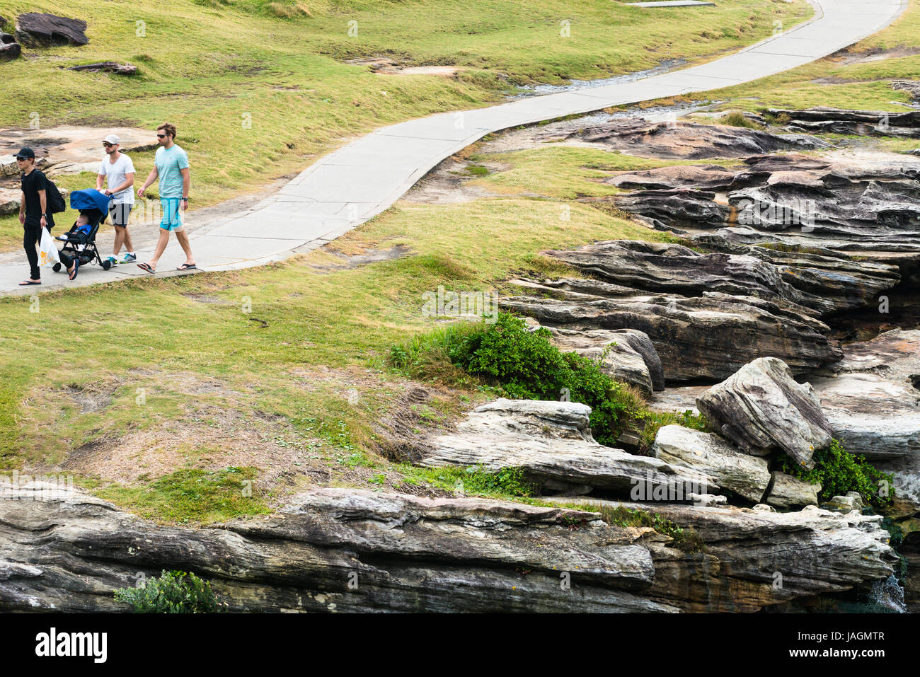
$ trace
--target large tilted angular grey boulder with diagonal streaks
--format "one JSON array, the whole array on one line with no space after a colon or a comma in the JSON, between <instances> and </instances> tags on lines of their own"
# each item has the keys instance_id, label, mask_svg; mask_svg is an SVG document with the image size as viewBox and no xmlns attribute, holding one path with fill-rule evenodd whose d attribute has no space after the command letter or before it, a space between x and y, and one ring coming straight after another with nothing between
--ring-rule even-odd
<instances>
[{"instance_id":1,"label":"large tilted angular grey boulder with diagonal streaks","mask_svg":"<svg viewBox=\"0 0 920 677\"><path fill-rule=\"evenodd\" d=\"M787 364L761 358L696 399L696 407L742 450L788 453L799 465L830 445L834 429L809 384L798 384Z\"/></svg>"}]
</instances>

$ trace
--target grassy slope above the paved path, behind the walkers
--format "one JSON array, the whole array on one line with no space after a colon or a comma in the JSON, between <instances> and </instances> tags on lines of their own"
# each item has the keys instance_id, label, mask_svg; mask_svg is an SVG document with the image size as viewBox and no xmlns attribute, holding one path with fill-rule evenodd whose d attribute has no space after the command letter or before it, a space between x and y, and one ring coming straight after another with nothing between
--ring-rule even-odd
<instances>
[{"instance_id":1,"label":"grassy slope above the paved path, behind the walkers","mask_svg":"<svg viewBox=\"0 0 920 677\"><path fill-rule=\"evenodd\" d=\"M655 12L610 0L177 0L161 9L150 0L0 0L4 17L48 11L84 18L90 39L85 47L27 50L0 63L0 126L28 127L33 112L45 129L64 122L153 128L171 120L190 153L199 207L303 169L346 137L493 103L509 83L605 77L705 56L769 35L777 19L791 25L811 14L804 0ZM293 17L272 16L278 13ZM357 36L348 35L351 20ZM563 20L568 38L559 35ZM138 21L145 37L136 35ZM342 63L376 54L468 70L456 79L386 76ZM109 60L132 62L139 75L62 69ZM144 177L152 155L134 163ZM95 177L61 184L86 188ZM0 219L0 250L17 247L19 228L15 218Z\"/></svg>"}]
</instances>

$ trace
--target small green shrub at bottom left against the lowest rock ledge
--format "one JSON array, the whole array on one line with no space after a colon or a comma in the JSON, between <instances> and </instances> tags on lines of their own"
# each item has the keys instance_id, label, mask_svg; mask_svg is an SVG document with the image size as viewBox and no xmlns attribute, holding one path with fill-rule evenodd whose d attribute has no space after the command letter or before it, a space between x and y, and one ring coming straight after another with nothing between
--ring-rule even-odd
<instances>
[{"instance_id":1,"label":"small green shrub at bottom left against the lowest rock ledge","mask_svg":"<svg viewBox=\"0 0 920 677\"><path fill-rule=\"evenodd\" d=\"M221 610L211 583L186 571L163 571L142 587L115 591L115 599L133 604L137 614L212 614Z\"/></svg>"}]
</instances>

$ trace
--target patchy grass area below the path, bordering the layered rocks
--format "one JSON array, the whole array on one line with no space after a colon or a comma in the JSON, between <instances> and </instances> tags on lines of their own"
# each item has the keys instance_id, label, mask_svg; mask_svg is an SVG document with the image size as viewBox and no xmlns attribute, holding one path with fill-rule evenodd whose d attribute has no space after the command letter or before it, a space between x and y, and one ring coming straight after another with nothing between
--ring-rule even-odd
<instances>
[{"instance_id":1,"label":"patchy grass area below the path, bordering the layered rocks","mask_svg":"<svg viewBox=\"0 0 920 677\"><path fill-rule=\"evenodd\" d=\"M579 150L573 159L559 150L547 149L543 163L549 196L579 181L592 190L599 171L588 165L611 155ZM534 154L526 152L522 162L533 162ZM627 156L616 157L620 166L630 166ZM509 155L502 158L513 162ZM632 166L648 165L632 159ZM0 419L0 467L53 467L94 442L138 435L155 440L179 430L181 463L172 475L144 474L114 484L83 476L78 484L145 516L207 522L264 511L265 501L279 494L224 500L238 487L239 473L254 470L236 459L226 460L227 470L215 470L211 462L220 452L201 442L207 437L201 430L244 434L260 429L264 419L280 419L282 432L268 434L281 438L278 445L328 464L332 484L353 484L348 475L355 465L375 468L374 476L365 477L372 486L385 476L428 483L430 476L372 452L375 422L392 412L410 385L385 369L385 355L436 322L421 315L421 293L439 285L489 290L523 270L552 273L554 266L537 254L547 248L658 236L577 202L564 220L559 204L552 197L445 206L401 202L335 247L357 253L402 245L410 255L360 268L316 251L237 273L42 294L38 313L30 312L28 298L0 299L0 323L10 327L0 336L0 351L22 356L0 367L0 397L10 414ZM251 314L243 312L245 297ZM259 327L253 316L269 326ZM18 348L22 337L29 337L27 352ZM347 404L351 387L360 393L356 406ZM139 388L143 405L136 399ZM81 407L79 396L100 392L109 396L103 406ZM468 391L435 397L421 412L422 422L441 420L482 396ZM136 462L143 469L155 465L158 453L142 450Z\"/></svg>"}]
</instances>

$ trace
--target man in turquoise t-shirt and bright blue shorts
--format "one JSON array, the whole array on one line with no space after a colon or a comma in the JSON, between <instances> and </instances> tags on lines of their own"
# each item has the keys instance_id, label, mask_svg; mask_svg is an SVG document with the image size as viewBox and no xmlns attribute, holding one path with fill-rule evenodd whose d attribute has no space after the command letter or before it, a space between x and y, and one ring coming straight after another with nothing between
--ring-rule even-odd
<instances>
[{"instance_id":1,"label":"man in turquoise t-shirt and bright blue shorts","mask_svg":"<svg viewBox=\"0 0 920 677\"><path fill-rule=\"evenodd\" d=\"M141 270L156 272L156 262L163 256L169 242L169 233L175 233L178 244L185 252L185 263L177 270L195 268L195 258L191 255L189 235L182 227L181 212L189 209L189 187L191 175L189 173L189 156L176 145L176 125L164 122L156 128L156 141L160 147L156 149L154 168L151 170L144 185L137 189L137 196L144 197L144 190L152 184L157 177L160 179L160 207L163 218L160 220L160 239L156 242L153 258L146 263L138 263Z\"/></svg>"}]
</instances>

